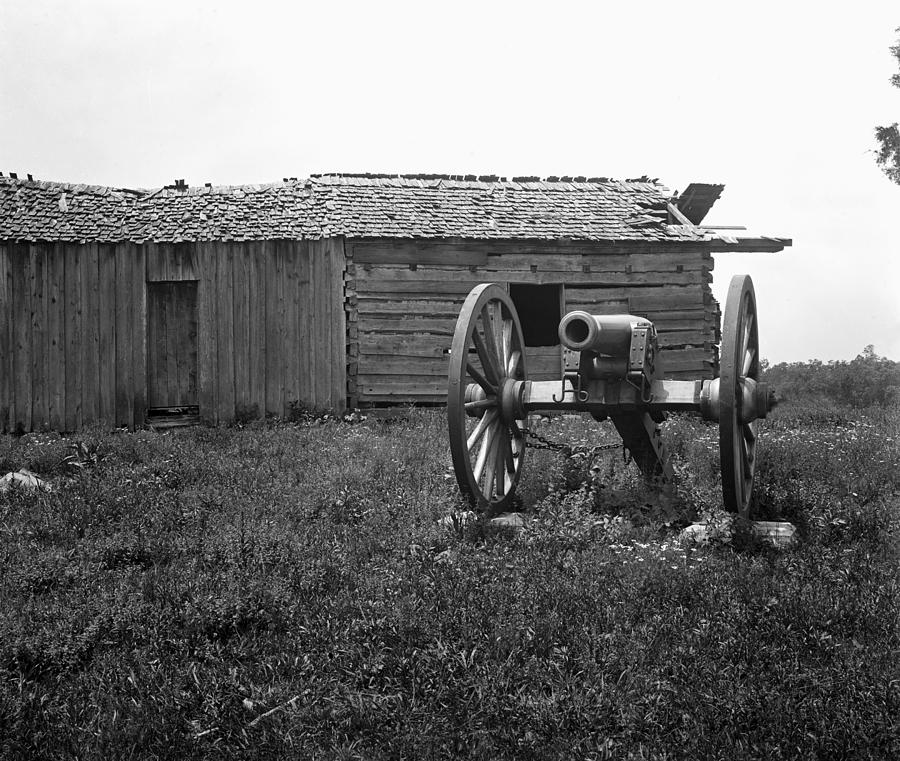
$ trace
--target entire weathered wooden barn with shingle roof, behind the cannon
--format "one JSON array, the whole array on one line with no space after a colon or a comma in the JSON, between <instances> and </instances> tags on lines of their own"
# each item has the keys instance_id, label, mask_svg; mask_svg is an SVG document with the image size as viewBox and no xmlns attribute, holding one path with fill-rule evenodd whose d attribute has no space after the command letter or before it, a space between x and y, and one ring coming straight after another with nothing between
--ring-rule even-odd
<instances>
[{"instance_id":1,"label":"entire weathered wooden barn with shingle roof, behind the cannon","mask_svg":"<svg viewBox=\"0 0 900 761\"><path fill-rule=\"evenodd\" d=\"M124 190L0 176L0 428L227 423L440 403L469 289L507 284L530 375L571 309L656 323L711 377L712 255L790 241L701 226L721 193L646 178L321 175Z\"/></svg>"}]
</instances>

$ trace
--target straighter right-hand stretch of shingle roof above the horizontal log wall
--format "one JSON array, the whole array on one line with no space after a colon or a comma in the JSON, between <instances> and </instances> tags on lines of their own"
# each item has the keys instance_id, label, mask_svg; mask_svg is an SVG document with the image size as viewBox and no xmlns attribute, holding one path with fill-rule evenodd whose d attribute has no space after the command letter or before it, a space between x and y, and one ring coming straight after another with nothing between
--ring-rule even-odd
<instances>
[{"instance_id":1,"label":"straighter right-hand stretch of shingle roof above the horizontal log wall","mask_svg":"<svg viewBox=\"0 0 900 761\"><path fill-rule=\"evenodd\" d=\"M665 212L669 192L643 180L326 175L310 182L316 202L326 199L326 228L348 237L672 237Z\"/></svg>"}]
</instances>

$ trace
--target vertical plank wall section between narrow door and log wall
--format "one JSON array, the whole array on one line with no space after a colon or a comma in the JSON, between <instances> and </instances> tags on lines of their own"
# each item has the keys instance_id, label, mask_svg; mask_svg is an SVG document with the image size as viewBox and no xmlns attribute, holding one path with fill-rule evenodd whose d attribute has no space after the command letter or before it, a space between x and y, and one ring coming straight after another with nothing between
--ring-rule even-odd
<instances>
[{"instance_id":1,"label":"vertical plank wall section between narrow door and log wall","mask_svg":"<svg viewBox=\"0 0 900 761\"><path fill-rule=\"evenodd\" d=\"M195 255L201 418L343 411L341 242L202 243Z\"/></svg>"}]
</instances>

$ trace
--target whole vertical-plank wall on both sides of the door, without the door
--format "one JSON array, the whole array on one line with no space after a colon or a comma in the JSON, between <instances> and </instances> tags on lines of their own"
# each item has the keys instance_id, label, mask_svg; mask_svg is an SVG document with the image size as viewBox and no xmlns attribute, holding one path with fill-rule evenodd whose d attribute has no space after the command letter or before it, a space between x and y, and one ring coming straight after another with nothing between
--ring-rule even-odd
<instances>
[{"instance_id":1,"label":"whole vertical-plank wall on both sides of the door, without the door","mask_svg":"<svg viewBox=\"0 0 900 761\"><path fill-rule=\"evenodd\" d=\"M198 282L201 417L346 402L340 240L0 242L0 430L141 426L147 282Z\"/></svg>"}]
</instances>

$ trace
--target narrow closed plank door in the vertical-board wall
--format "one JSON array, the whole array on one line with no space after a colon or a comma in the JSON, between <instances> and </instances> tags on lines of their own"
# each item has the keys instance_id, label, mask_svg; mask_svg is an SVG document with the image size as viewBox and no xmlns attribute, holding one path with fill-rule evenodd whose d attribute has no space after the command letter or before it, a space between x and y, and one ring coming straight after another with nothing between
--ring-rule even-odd
<instances>
[{"instance_id":1,"label":"narrow closed plank door in the vertical-board wall","mask_svg":"<svg viewBox=\"0 0 900 761\"><path fill-rule=\"evenodd\" d=\"M198 413L197 281L147 283L147 417Z\"/></svg>"}]
</instances>

